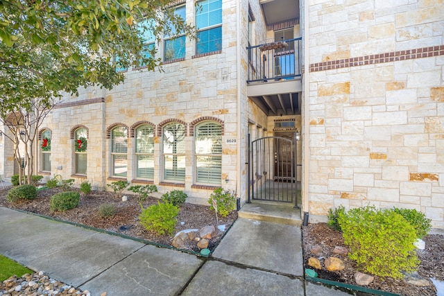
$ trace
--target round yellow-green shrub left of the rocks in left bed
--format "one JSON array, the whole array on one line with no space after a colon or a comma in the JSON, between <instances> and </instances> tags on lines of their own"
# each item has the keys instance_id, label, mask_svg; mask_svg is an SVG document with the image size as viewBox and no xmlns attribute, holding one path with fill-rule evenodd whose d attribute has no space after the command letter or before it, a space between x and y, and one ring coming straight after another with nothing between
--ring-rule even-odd
<instances>
[{"instance_id":1,"label":"round yellow-green shrub left of the rocks in left bed","mask_svg":"<svg viewBox=\"0 0 444 296\"><path fill-rule=\"evenodd\" d=\"M156 232L159 235L165 233L172 235L178 214L179 208L174 204L157 202L157 204L144 209L139 215L139 220L146 230Z\"/></svg>"}]
</instances>

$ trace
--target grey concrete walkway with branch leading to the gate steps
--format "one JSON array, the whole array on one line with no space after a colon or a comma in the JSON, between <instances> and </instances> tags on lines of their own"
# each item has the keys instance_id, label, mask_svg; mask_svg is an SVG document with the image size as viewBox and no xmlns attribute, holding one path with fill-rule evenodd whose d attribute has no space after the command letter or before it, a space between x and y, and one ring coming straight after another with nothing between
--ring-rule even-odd
<instances>
[{"instance_id":1,"label":"grey concrete walkway with branch leading to the gate steps","mask_svg":"<svg viewBox=\"0 0 444 296\"><path fill-rule=\"evenodd\" d=\"M0 207L0 254L91 295L350 295L304 280L300 227L247 218L203 258Z\"/></svg>"}]
</instances>

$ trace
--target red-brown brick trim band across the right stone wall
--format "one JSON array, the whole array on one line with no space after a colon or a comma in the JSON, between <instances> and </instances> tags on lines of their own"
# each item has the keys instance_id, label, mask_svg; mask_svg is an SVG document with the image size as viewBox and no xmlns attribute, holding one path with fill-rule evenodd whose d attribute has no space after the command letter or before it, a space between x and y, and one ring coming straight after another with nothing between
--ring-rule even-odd
<instances>
[{"instance_id":1,"label":"red-brown brick trim band across the right stone wall","mask_svg":"<svg viewBox=\"0 0 444 296\"><path fill-rule=\"evenodd\" d=\"M409 49L407 51L392 51L391 53L379 53L376 55L364 55L357 58L348 58L328 62L316 62L310 64L309 71L325 71L339 68L364 66L366 64L380 64L398 60L412 60L415 58L429 58L436 55L444 55L444 45L423 47L422 49Z\"/></svg>"}]
</instances>

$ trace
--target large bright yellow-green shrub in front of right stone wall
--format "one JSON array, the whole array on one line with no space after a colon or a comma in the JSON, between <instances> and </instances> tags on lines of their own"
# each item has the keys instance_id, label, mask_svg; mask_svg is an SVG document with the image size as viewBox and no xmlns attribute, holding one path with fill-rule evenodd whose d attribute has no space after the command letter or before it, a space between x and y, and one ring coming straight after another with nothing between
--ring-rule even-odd
<instances>
[{"instance_id":1,"label":"large bright yellow-green shrub in front of right stone wall","mask_svg":"<svg viewBox=\"0 0 444 296\"><path fill-rule=\"evenodd\" d=\"M348 256L364 272L401 279L402 271L416 270L416 232L400 214L362 207L339 214L338 222L350 247Z\"/></svg>"}]
</instances>

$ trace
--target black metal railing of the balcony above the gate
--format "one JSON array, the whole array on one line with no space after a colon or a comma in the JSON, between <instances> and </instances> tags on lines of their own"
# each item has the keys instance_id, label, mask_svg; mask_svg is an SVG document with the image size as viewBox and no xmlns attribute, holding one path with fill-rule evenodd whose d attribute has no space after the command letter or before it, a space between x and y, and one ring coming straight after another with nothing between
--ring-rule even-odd
<instances>
[{"instance_id":1,"label":"black metal railing of the balcony above the gate","mask_svg":"<svg viewBox=\"0 0 444 296\"><path fill-rule=\"evenodd\" d=\"M247 82L291 79L301 76L302 38L248 46Z\"/></svg>"}]
</instances>

